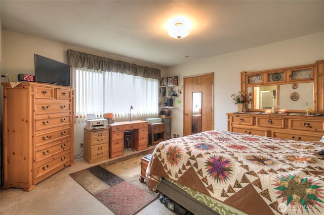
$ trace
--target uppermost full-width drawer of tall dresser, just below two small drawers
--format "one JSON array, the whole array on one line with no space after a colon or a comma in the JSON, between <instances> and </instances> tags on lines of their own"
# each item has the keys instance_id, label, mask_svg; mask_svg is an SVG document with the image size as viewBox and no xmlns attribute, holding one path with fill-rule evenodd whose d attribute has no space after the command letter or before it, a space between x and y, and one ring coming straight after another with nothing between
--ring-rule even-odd
<instances>
[{"instance_id":1,"label":"uppermost full-width drawer of tall dresser, just below two small drawers","mask_svg":"<svg viewBox=\"0 0 324 215\"><path fill-rule=\"evenodd\" d=\"M70 102L36 102L35 114L71 112Z\"/></svg>"}]
</instances>

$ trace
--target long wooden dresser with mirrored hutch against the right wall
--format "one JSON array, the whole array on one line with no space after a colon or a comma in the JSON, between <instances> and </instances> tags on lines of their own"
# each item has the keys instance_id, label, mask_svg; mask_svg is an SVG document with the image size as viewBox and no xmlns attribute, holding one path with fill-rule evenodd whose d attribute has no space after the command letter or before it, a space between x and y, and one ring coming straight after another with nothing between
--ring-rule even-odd
<instances>
[{"instance_id":1,"label":"long wooden dresser with mirrored hutch against the right wall","mask_svg":"<svg viewBox=\"0 0 324 215\"><path fill-rule=\"evenodd\" d=\"M300 141L324 135L324 60L240 77L253 101L246 112L227 114L229 131Z\"/></svg>"}]
</instances>

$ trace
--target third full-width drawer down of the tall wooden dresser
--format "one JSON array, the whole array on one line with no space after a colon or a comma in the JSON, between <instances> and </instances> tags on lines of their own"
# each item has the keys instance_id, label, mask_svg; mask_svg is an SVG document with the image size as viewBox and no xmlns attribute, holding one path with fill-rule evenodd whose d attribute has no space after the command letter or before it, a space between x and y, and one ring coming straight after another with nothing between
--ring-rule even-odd
<instances>
[{"instance_id":1,"label":"third full-width drawer down of the tall wooden dresser","mask_svg":"<svg viewBox=\"0 0 324 215\"><path fill-rule=\"evenodd\" d=\"M48 142L54 142L58 139L70 137L71 129L64 128L56 131L49 131L41 134L35 134L35 146L44 145Z\"/></svg>"}]
</instances>

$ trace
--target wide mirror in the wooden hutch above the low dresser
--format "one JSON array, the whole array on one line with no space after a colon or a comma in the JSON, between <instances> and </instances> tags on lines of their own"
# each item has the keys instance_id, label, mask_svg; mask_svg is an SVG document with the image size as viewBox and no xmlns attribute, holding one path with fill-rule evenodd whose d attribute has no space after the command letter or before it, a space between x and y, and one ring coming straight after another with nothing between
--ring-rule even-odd
<instances>
[{"instance_id":1,"label":"wide mirror in the wooden hutch above the low dresser","mask_svg":"<svg viewBox=\"0 0 324 215\"><path fill-rule=\"evenodd\" d=\"M248 106L251 110L271 109L272 106L286 110L314 109L313 82L248 87L248 93L253 96Z\"/></svg>"}]
</instances>

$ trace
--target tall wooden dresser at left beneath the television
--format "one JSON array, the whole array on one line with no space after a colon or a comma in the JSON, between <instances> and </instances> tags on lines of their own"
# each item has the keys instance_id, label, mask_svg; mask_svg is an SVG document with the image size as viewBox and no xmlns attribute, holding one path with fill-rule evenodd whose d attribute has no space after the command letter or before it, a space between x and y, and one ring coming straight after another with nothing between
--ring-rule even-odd
<instances>
[{"instance_id":1,"label":"tall wooden dresser at left beneath the television","mask_svg":"<svg viewBox=\"0 0 324 215\"><path fill-rule=\"evenodd\" d=\"M4 87L4 186L34 189L74 165L69 87L23 82Z\"/></svg>"}]
</instances>

